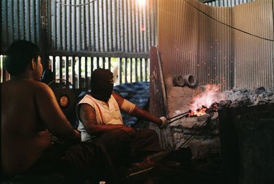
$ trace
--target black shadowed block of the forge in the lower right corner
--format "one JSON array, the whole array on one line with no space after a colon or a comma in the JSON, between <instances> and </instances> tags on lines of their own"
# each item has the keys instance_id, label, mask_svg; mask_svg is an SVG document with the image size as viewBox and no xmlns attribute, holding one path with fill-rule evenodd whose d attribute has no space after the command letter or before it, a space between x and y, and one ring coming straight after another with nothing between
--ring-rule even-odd
<instances>
[{"instance_id":1,"label":"black shadowed block of the forge in the lower right corner","mask_svg":"<svg viewBox=\"0 0 274 184\"><path fill-rule=\"evenodd\" d=\"M274 104L219 111L229 183L274 183Z\"/></svg>"}]
</instances>

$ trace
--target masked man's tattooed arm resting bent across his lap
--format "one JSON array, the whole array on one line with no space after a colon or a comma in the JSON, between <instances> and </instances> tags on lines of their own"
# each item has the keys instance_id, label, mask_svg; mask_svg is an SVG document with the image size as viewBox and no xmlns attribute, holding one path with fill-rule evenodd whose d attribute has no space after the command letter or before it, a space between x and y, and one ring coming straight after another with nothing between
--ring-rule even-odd
<instances>
[{"instance_id":1,"label":"masked man's tattooed arm resting bent across his lap","mask_svg":"<svg viewBox=\"0 0 274 184\"><path fill-rule=\"evenodd\" d=\"M89 135L101 135L113 129L125 130L129 135L135 133L133 128L123 124L97 124L95 109L88 104L79 105L81 122Z\"/></svg>"}]
</instances>

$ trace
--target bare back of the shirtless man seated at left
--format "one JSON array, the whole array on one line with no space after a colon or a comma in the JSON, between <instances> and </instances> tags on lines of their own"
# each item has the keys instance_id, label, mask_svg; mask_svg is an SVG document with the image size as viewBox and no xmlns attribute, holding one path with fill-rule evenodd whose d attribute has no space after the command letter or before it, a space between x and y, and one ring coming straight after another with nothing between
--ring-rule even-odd
<instances>
[{"instance_id":1,"label":"bare back of the shirtless man seated at left","mask_svg":"<svg viewBox=\"0 0 274 184\"><path fill-rule=\"evenodd\" d=\"M42 116L54 115L58 107L49 87L34 80L10 80L1 85L2 172L24 172L51 144L51 135ZM55 104L58 105L58 104ZM62 113L60 113L62 115ZM66 121L65 117L60 121ZM46 117L47 118L47 117ZM44 120L43 120L44 119ZM58 118L53 118L58 121ZM62 127L65 128L65 127ZM66 128L68 132L69 127Z\"/></svg>"}]
</instances>

